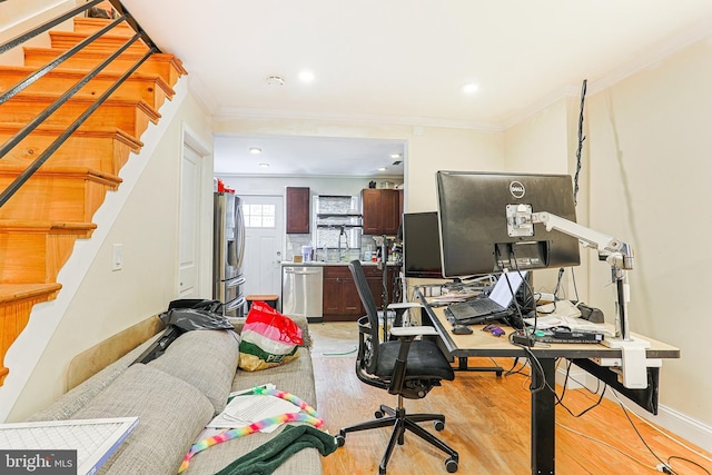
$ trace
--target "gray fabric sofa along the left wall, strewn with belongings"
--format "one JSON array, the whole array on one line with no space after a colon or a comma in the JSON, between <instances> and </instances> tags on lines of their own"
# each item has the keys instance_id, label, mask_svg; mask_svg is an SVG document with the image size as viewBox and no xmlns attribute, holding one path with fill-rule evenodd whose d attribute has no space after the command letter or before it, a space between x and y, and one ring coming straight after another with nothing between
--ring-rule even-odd
<instances>
[{"instance_id":1,"label":"gray fabric sofa along the left wall, strewn with belongings","mask_svg":"<svg viewBox=\"0 0 712 475\"><path fill-rule=\"evenodd\" d=\"M306 321L299 356L276 368L237 369L241 321L236 331L194 330L178 337L164 355L147 364L131 363L157 338L68 392L31 420L138 416L139 424L99 471L100 474L176 474L195 438L227 403L233 390L273 383L316 406L314 369ZM237 369L237 370L236 370ZM255 433L214 445L191 459L185 474L214 474L276 437ZM287 458L275 474L322 474L315 448Z\"/></svg>"}]
</instances>

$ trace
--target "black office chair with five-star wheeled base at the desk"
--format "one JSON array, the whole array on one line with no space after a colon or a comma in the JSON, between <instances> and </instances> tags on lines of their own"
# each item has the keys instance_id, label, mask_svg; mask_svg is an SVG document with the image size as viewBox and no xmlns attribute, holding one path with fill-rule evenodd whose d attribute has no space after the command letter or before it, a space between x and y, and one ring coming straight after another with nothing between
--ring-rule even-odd
<instances>
[{"instance_id":1,"label":"black office chair with five-star wheeled base at the desk","mask_svg":"<svg viewBox=\"0 0 712 475\"><path fill-rule=\"evenodd\" d=\"M394 326L390 331L393 339L384 338L387 340L380 342L378 310L364 269L358 260L350 261L348 267L354 276L360 300L366 308L366 316L358 319L356 375L367 385L387 389L388 393L397 395L398 400L395 409L380 405L375 413L376 419L374 420L342 428L336 436L338 446L345 444L346 434L349 432L393 426L393 434L380 461L378 474L386 473L386 465L395 444L403 445L406 431L411 431L445 452L448 455L445 459L445 468L449 473L456 472L459 459L457 452L416 424L433 420L435 429L439 432L445 428L445 416L442 414L406 414L405 407L403 407L404 398L423 398L434 386L439 386L441 380L455 379L449 362L435 342L416 339L418 335L437 335L437 331L433 327ZM384 320L387 321L386 315L384 315ZM385 417L386 414L388 417Z\"/></svg>"}]
</instances>

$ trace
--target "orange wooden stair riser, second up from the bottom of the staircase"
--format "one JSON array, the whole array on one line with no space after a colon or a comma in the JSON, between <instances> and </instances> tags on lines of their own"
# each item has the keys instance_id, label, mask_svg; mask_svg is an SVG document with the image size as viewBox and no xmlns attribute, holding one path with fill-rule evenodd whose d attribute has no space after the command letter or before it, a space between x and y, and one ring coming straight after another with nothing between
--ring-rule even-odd
<instances>
[{"instance_id":1,"label":"orange wooden stair riser, second up from the bottom of the staircase","mask_svg":"<svg viewBox=\"0 0 712 475\"><path fill-rule=\"evenodd\" d=\"M78 238L90 232L42 234L4 232L0 230L0 284L57 281Z\"/></svg>"}]
</instances>

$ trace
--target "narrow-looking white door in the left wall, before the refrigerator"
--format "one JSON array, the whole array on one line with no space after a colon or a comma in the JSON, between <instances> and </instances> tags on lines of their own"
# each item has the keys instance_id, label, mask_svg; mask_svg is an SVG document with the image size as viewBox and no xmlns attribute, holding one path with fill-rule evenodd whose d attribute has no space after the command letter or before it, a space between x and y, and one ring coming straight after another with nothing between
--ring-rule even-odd
<instances>
[{"instance_id":1,"label":"narrow-looking white door in the left wall, before the refrigerator","mask_svg":"<svg viewBox=\"0 0 712 475\"><path fill-rule=\"evenodd\" d=\"M180 237L178 275L180 298L198 296L201 157L184 144L180 166Z\"/></svg>"}]
</instances>

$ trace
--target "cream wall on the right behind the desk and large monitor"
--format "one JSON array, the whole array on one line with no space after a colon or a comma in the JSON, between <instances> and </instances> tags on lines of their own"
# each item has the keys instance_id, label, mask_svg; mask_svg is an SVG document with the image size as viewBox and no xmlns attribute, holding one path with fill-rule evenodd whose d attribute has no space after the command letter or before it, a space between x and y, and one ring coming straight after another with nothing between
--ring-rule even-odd
<instances>
[{"instance_id":1,"label":"cream wall on the right behind the desk and large monitor","mask_svg":"<svg viewBox=\"0 0 712 475\"><path fill-rule=\"evenodd\" d=\"M701 304L712 261L706 251L711 80L708 39L603 90L589 85L577 207L580 222L633 246L632 329L681 349L680 359L663 363L654 420L706 449L712 447L706 365L712 319ZM541 162L542 171L573 175L577 121L578 98L568 98L512 127L505 133L507 169L534 170ZM537 166L528 167L532 162ZM587 265L576 269L580 294L613 323L610 267L585 253Z\"/></svg>"}]
</instances>

